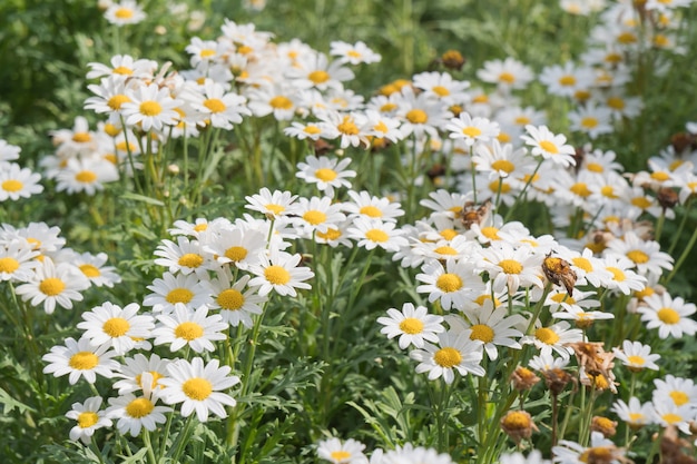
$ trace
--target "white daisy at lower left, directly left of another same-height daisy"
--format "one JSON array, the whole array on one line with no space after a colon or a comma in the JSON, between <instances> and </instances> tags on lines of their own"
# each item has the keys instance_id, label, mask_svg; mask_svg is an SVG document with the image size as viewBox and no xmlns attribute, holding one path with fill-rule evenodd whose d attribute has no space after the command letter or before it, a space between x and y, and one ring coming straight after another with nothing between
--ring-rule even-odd
<instances>
[{"instance_id":1,"label":"white daisy at lower left, directly left of another same-height daisy","mask_svg":"<svg viewBox=\"0 0 697 464\"><path fill-rule=\"evenodd\" d=\"M89 338L92 346L112 347L117 355L122 355L136 347L136 339L150 338L155 328L153 317L138 315L137 303L126 305L122 309L109 302L82 313L78 328L85 330L84 337Z\"/></svg>"}]
</instances>

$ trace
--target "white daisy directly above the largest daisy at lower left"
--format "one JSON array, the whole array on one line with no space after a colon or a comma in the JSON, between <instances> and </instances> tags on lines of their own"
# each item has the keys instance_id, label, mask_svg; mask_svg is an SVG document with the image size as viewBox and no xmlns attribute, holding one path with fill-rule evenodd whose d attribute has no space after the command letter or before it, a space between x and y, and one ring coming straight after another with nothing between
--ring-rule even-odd
<instances>
[{"instance_id":1,"label":"white daisy directly above the largest daisy at lower left","mask_svg":"<svg viewBox=\"0 0 697 464\"><path fill-rule=\"evenodd\" d=\"M208 316L208 306L199 306L190 310L185 305L177 303L171 314L157 315L158 327L153 329L155 345L169 344L171 352L177 352L189 346L194 352L214 352L213 342L223 340L227 337L224 330L228 324L223 322L223 316L214 314Z\"/></svg>"}]
</instances>

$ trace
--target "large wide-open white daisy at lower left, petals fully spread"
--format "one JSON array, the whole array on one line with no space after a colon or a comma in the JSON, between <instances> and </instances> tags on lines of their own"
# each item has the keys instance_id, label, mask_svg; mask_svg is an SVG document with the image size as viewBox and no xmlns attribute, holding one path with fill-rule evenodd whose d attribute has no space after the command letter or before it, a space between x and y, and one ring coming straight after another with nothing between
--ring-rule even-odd
<instances>
[{"instance_id":1,"label":"large wide-open white daisy at lower left, petals fully spread","mask_svg":"<svg viewBox=\"0 0 697 464\"><path fill-rule=\"evenodd\" d=\"M229 375L229 366L219 366L218 359L204 364L195 357L192 362L177 359L167 368L169 376L160 383L163 399L167 404L181 403L181 415L190 416L194 412L199 422L207 422L209 413L227 417L225 406L235 406L237 402L224 391L237 385L239 377Z\"/></svg>"}]
</instances>

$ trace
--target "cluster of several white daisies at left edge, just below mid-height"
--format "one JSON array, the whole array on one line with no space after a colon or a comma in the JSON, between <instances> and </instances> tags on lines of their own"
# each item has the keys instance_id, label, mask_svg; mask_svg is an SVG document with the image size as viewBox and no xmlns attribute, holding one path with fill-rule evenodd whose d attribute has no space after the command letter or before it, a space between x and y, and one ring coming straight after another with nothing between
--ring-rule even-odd
<instances>
[{"instance_id":1,"label":"cluster of several white daisies at left edge, just below mid-height","mask_svg":"<svg viewBox=\"0 0 697 464\"><path fill-rule=\"evenodd\" d=\"M65 245L60 229L46 223L0 225L0 280L47 314L57 306L72 308L89 287L114 287L121 282L116 269L106 265L106 253L79 253Z\"/></svg>"}]
</instances>

